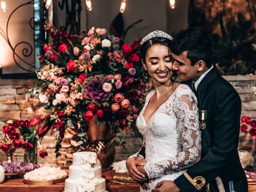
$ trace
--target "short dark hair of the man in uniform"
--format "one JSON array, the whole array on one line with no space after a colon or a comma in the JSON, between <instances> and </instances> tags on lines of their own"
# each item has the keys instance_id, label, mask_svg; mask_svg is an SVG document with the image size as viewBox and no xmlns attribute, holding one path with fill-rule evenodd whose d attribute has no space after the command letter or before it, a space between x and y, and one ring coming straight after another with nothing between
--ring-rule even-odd
<instances>
[{"instance_id":1,"label":"short dark hair of the man in uniform","mask_svg":"<svg viewBox=\"0 0 256 192\"><path fill-rule=\"evenodd\" d=\"M207 68L212 66L212 40L206 30L192 27L178 32L174 36L171 50L175 55L188 51L187 58L193 66L197 61L203 60Z\"/></svg>"}]
</instances>

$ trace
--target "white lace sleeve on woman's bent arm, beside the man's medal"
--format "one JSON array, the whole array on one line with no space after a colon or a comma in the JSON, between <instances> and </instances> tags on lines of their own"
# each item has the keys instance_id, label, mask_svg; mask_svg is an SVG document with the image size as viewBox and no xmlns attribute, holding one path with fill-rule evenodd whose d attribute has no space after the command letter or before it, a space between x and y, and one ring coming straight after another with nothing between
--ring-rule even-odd
<instances>
[{"instance_id":1,"label":"white lace sleeve on woman's bent arm, beside the man's medal","mask_svg":"<svg viewBox=\"0 0 256 192\"><path fill-rule=\"evenodd\" d=\"M184 170L200 160L201 132L197 99L191 90L178 93L175 101L178 117L178 130L182 142L182 150L175 156L161 162L146 163L145 171L150 179Z\"/></svg>"}]
</instances>

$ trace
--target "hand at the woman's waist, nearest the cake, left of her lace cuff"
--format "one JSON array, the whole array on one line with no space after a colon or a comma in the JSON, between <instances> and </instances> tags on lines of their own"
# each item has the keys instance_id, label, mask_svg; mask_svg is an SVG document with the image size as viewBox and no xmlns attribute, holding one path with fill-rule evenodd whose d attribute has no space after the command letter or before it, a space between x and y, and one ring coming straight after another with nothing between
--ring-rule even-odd
<instances>
[{"instance_id":1,"label":"hand at the woman's waist, nearest the cake, left of her lace cuff","mask_svg":"<svg viewBox=\"0 0 256 192\"><path fill-rule=\"evenodd\" d=\"M147 179L145 175L138 171L137 166L140 166L142 163L135 160L135 158L130 158L126 160L126 168L131 176L137 182L144 182Z\"/></svg>"}]
</instances>

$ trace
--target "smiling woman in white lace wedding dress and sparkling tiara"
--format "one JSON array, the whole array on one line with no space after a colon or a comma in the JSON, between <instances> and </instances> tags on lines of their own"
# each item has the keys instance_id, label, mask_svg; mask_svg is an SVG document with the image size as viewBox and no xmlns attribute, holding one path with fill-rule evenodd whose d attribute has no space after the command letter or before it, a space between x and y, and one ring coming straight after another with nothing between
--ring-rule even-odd
<instances>
[{"instance_id":1,"label":"smiling woman in white lace wedding dress and sparkling tiara","mask_svg":"<svg viewBox=\"0 0 256 192\"><path fill-rule=\"evenodd\" d=\"M146 158L136 153L126 162L130 176L141 184L140 192L174 180L200 160L197 98L187 85L171 79L171 42L162 31L151 32L141 42L142 64L154 84L136 122Z\"/></svg>"}]
</instances>

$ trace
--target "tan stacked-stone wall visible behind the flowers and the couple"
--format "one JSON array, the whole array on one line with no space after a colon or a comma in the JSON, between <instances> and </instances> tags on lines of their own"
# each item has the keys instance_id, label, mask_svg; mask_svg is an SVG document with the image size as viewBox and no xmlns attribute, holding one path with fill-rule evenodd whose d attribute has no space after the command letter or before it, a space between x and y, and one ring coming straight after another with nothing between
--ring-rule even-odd
<instances>
[{"instance_id":1,"label":"tan stacked-stone wall visible behind the flowers and the couple","mask_svg":"<svg viewBox=\"0 0 256 192\"><path fill-rule=\"evenodd\" d=\"M253 97L254 87L249 85L254 83L250 75L246 76L224 76L234 88L238 91L242 100L242 116L250 116L256 118L256 101ZM34 117L35 115L28 114L27 108L33 100L25 100L25 92L32 87L35 79L33 80L13 80L13 79L0 79L0 141L3 140L2 126L7 120L25 120ZM125 139L126 144L124 146L116 147L116 159L127 159L131 154L134 154L140 149L142 140L138 137L127 136ZM62 142L62 148L60 149L61 156L55 158L54 154L54 138L47 134L41 143L42 149L47 149L48 156L44 159L38 156L38 164L49 164L51 166L68 166L70 163L66 163L66 159L69 159L68 155L72 148L68 140ZM252 140L249 134L240 133L240 143L238 149L250 150L252 147ZM38 148L38 152L39 152ZM18 149L14 153L14 160L23 160L23 150ZM0 152L0 160L5 160L6 156Z\"/></svg>"}]
</instances>

